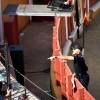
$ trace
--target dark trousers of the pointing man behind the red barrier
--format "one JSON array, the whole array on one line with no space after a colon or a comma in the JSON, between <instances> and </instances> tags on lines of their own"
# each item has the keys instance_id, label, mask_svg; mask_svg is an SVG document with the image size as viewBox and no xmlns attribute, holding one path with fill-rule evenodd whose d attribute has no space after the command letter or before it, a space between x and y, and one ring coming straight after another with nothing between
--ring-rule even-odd
<instances>
[{"instance_id":1,"label":"dark trousers of the pointing man behind the red barrier","mask_svg":"<svg viewBox=\"0 0 100 100\"><path fill-rule=\"evenodd\" d=\"M90 80L89 75L85 73L85 74L77 75L76 77L79 80L79 82L86 88L86 90L88 90L87 86Z\"/></svg>"}]
</instances>

